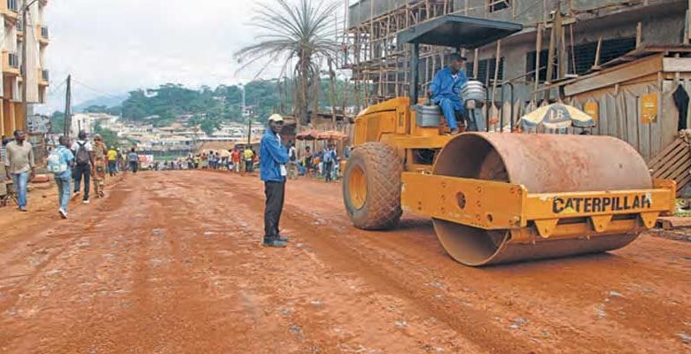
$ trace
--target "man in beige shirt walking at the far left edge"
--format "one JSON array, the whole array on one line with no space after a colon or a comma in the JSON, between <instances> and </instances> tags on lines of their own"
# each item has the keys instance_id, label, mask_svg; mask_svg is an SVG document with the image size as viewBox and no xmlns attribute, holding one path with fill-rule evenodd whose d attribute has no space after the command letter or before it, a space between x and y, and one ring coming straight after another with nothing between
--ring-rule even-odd
<instances>
[{"instance_id":1,"label":"man in beige shirt walking at the far left edge","mask_svg":"<svg viewBox=\"0 0 691 354\"><path fill-rule=\"evenodd\" d=\"M4 151L4 168L7 179L12 179L19 201L19 211L27 212L28 182L35 177L34 149L26 142L24 131L14 131L14 141L8 142Z\"/></svg>"}]
</instances>

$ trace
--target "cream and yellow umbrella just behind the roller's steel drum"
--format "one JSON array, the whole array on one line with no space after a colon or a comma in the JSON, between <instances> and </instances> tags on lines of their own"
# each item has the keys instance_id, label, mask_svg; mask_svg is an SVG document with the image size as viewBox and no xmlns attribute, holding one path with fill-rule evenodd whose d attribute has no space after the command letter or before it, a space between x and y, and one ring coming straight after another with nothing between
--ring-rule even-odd
<instances>
[{"instance_id":1,"label":"cream and yellow umbrella just behind the roller's steel drum","mask_svg":"<svg viewBox=\"0 0 691 354\"><path fill-rule=\"evenodd\" d=\"M543 125L549 129L565 127L594 127L595 121L585 112L568 104L549 104L521 117L524 127Z\"/></svg>"}]
</instances>

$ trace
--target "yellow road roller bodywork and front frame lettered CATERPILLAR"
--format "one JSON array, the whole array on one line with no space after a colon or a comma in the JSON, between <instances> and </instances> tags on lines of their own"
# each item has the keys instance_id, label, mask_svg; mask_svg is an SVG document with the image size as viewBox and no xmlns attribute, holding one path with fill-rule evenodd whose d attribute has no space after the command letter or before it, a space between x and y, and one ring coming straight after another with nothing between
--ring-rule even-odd
<instances>
[{"instance_id":1,"label":"yellow road roller bodywork and front frame lettered CATERPILLAR","mask_svg":"<svg viewBox=\"0 0 691 354\"><path fill-rule=\"evenodd\" d=\"M408 97L398 97L369 107L355 119L353 139L355 146L385 142L406 161L404 211L486 230L509 229L511 242L641 232L654 227L660 214L674 212L674 181L655 181L654 189L531 194L517 184L432 175L432 165L414 163L412 150L441 149L454 136L444 135L444 127L417 127L409 103ZM569 201L574 205L566 207ZM622 214L639 218L615 218ZM583 222L560 223L564 219Z\"/></svg>"}]
</instances>

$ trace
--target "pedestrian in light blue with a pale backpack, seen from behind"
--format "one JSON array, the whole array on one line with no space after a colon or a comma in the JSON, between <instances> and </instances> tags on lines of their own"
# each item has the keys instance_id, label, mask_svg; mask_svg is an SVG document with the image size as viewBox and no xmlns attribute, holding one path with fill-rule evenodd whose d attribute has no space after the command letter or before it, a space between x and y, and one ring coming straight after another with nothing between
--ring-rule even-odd
<instances>
[{"instance_id":1,"label":"pedestrian in light blue with a pale backpack, seen from behind","mask_svg":"<svg viewBox=\"0 0 691 354\"><path fill-rule=\"evenodd\" d=\"M54 173L53 178L58 185L58 213L60 218L67 219L67 205L72 197L71 183L74 154L69 149L69 138L60 136L58 142L58 147L50 151L48 171Z\"/></svg>"}]
</instances>

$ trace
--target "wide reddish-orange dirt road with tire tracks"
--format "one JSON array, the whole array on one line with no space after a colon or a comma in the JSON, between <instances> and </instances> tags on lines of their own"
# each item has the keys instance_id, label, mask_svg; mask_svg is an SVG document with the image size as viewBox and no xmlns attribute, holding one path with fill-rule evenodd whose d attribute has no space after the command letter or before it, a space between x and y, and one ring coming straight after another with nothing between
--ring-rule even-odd
<instances>
[{"instance_id":1,"label":"wide reddish-orange dirt road with tire tracks","mask_svg":"<svg viewBox=\"0 0 691 354\"><path fill-rule=\"evenodd\" d=\"M429 220L355 230L340 185L300 180L290 247L265 249L262 191L140 173L66 221L17 217L0 235L0 352L691 352L691 243L470 268Z\"/></svg>"}]
</instances>

